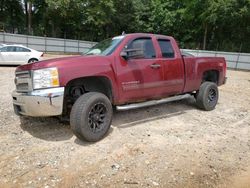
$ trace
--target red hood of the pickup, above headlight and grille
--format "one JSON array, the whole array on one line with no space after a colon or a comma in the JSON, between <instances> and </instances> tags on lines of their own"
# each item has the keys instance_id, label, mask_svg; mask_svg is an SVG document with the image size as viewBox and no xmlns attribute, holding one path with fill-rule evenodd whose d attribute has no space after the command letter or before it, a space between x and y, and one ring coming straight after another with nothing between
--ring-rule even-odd
<instances>
[{"instance_id":1,"label":"red hood of the pickup, above headlight and grille","mask_svg":"<svg viewBox=\"0 0 250 188\"><path fill-rule=\"evenodd\" d=\"M66 67L84 67L96 66L98 64L110 64L110 57L107 56L72 56L57 59L39 61L35 63L25 64L17 67L16 71L37 70L43 68L57 67L58 69ZM84 65L83 65L84 64Z\"/></svg>"}]
</instances>

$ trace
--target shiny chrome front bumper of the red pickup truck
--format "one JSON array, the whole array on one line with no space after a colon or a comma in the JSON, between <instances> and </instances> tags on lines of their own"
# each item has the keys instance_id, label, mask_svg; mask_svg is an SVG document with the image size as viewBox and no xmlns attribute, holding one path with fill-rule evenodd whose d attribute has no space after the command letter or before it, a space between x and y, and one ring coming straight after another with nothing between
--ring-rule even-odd
<instances>
[{"instance_id":1,"label":"shiny chrome front bumper of the red pickup truck","mask_svg":"<svg viewBox=\"0 0 250 188\"><path fill-rule=\"evenodd\" d=\"M44 117L58 116L63 111L64 87L12 93L17 115Z\"/></svg>"}]
</instances>

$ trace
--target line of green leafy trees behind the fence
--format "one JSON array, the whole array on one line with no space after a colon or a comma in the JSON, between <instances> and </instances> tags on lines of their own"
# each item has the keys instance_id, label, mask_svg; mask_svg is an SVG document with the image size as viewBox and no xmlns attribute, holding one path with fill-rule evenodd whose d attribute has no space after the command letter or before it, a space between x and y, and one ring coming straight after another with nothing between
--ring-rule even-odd
<instances>
[{"instance_id":1,"label":"line of green leafy trees behind the fence","mask_svg":"<svg viewBox=\"0 0 250 188\"><path fill-rule=\"evenodd\" d=\"M1 0L0 30L89 41L146 32L182 48L250 52L250 0Z\"/></svg>"}]
</instances>

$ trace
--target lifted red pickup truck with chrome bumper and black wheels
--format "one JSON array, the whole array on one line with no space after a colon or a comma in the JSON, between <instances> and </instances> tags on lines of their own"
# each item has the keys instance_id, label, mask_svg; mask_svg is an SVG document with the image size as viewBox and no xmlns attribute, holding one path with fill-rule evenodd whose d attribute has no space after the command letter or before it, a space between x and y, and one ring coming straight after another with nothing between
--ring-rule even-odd
<instances>
[{"instance_id":1,"label":"lifted red pickup truck with chrome bumper and black wheels","mask_svg":"<svg viewBox=\"0 0 250 188\"><path fill-rule=\"evenodd\" d=\"M98 141L108 132L113 107L129 110L193 95L213 110L226 62L183 56L174 38L126 34L98 43L82 56L17 67L14 110L24 116L70 117L74 134Z\"/></svg>"}]
</instances>

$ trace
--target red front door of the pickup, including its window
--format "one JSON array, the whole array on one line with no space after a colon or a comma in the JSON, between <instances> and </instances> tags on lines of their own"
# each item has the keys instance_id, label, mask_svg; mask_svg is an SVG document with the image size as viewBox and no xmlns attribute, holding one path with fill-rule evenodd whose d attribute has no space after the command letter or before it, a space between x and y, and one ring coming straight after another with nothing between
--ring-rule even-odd
<instances>
[{"instance_id":1,"label":"red front door of the pickup, including its window","mask_svg":"<svg viewBox=\"0 0 250 188\"><path fill-rule=\"evenodd\" d=\"M162 64L152 39L136 38L128 42L123 51L135 49L143 51L143 56L129 59L119 57L121 63L117 64L121 101L136 102L162 96Z\"/></svg>"}]
</instances>

